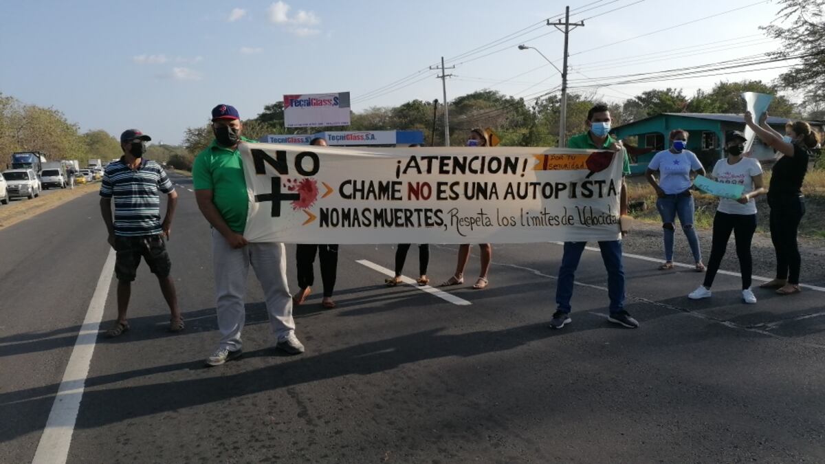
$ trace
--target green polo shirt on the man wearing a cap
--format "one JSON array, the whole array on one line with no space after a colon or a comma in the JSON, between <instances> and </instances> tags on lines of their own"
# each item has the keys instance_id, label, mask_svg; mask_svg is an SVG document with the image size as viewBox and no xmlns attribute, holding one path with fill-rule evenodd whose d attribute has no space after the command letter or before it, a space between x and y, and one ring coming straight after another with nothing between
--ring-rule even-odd
<instances>
[{"instance_id":1,"label":"green polo shirt on the man wearing a cap","mask_svg":"<svg viewBox=\"0 0 825 464\"><path fill-rule=\"evenodd\" d=\"M255 143L241 137L247 143ZM212 140L210 146L201 151L192 167L192 183L195 190L211 190L212 202L220 215L238 234L243 234L247 225L249 197L247 181L243 177L243 163L238 149L227 149Z\"/></svg>"}]
</instances>

